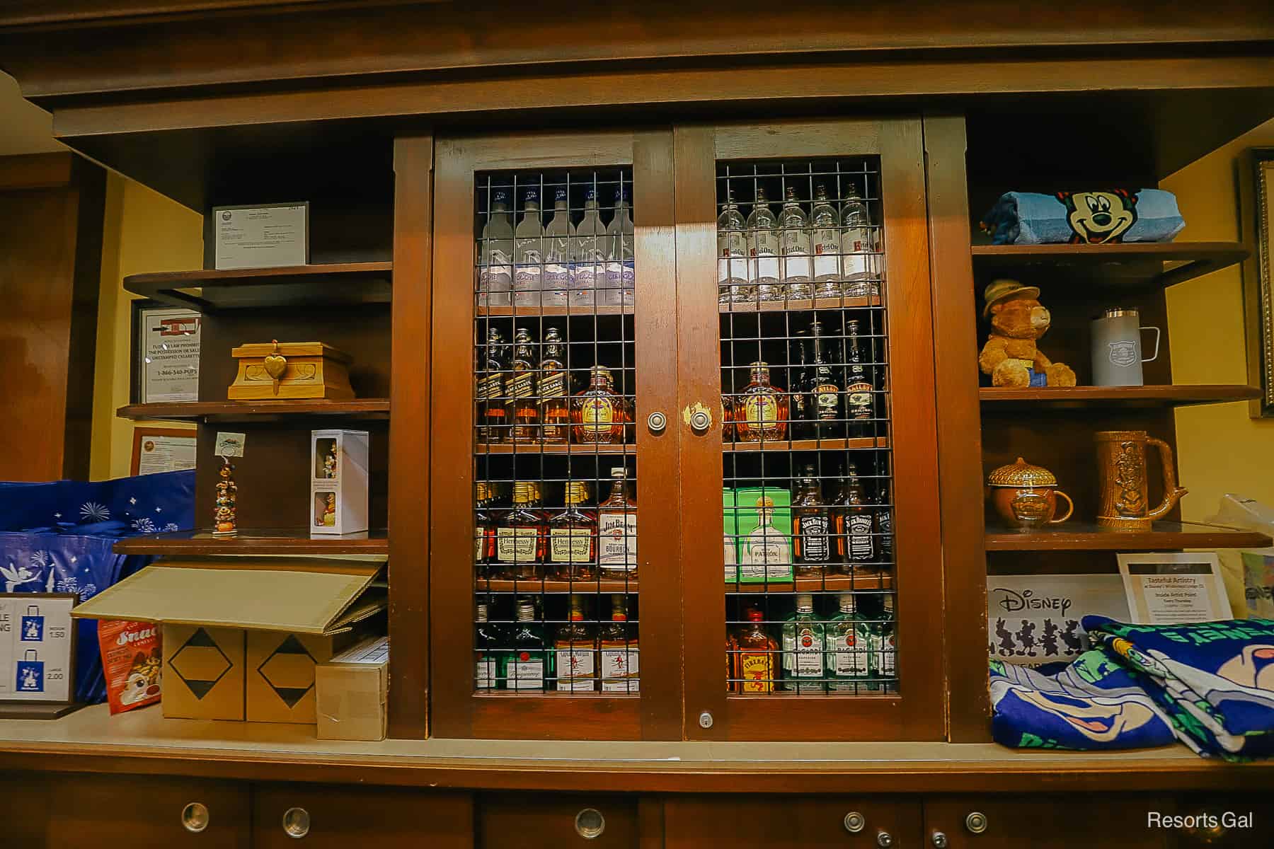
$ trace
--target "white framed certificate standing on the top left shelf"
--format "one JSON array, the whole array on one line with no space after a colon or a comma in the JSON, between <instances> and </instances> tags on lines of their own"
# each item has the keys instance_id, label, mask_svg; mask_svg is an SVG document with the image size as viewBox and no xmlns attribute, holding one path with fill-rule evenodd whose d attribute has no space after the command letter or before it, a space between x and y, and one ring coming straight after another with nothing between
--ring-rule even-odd
<instances>
[{"instance_id":1,"label":"white framed certificate standing on the top left shelf","mask_svg":"<svg viewBox=\"0 0 1274 849\"><path fill-rule=\"evenodd\" d=\"M278 269L310 261L310 204L215 206L217 267Z\"/></svg>"}]
</instances>

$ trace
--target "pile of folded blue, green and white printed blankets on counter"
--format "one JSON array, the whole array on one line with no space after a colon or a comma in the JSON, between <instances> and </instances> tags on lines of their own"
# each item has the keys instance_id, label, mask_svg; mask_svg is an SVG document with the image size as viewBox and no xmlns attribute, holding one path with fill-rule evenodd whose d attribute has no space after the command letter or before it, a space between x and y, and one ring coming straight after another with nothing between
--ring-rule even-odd
<instances>
[{"instance_id":1,"label":"pile of folded blue, green and white printed blankets on counter","mask_svg":"<svg viewBox=\"0 0 1274 849\"><path fill-rule=\"evenodd\" d=\"M1127 625L1085 616L1094 648L1069 664L991 662L1005 746L1113 750L1180 740L1204 756L1274 754L1274 620Z\"/></svg>"}]
</instances>

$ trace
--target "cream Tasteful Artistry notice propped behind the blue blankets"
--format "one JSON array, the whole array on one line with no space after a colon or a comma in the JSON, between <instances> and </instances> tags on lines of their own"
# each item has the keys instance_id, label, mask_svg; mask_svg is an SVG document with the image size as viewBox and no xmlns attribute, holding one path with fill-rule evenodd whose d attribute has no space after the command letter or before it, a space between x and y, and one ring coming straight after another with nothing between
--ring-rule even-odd
<instances>
[{"instance_id":1,"label":"cream Tasteful Artistry notice propped behind the blue blankets","mask_svg":"<svg viewBox=\"0 0 1274 849\"><path fill-rule=\"evenodd\" d=\"M1119 570L1138 625L1231 619L1215 554L1121 554Z\"/></svg>"}]
</instances>

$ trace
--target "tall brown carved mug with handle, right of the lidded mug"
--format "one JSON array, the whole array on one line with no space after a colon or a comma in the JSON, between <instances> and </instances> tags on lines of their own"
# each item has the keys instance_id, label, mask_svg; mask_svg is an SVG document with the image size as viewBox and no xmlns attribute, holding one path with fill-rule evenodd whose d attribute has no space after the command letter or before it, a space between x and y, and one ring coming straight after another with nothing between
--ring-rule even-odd
<instances>
[{"instance_id":1,"label":"tall brown carved mug with handle, right of the lidded mug","mask_svg":"<svg viewBox=\"0 0 1274 849\"><path fill-rule=\"evenodd\" d=\"M1102 502L1097 524L1125 531L1144 531L1177 505L1186 490L1177 486L1172 448L1152 439L1144 430L1098 430L1097 474L1102 479ZM1147 504L1145 449L1154 446L1163 462L1163 500L1153 510Z\"/></svg>"}]
</instances>

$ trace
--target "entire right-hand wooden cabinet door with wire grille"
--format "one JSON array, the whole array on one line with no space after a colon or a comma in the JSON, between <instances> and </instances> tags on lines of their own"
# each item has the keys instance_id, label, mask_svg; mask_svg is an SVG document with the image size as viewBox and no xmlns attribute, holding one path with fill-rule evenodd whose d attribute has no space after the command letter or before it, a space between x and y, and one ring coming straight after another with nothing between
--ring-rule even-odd
<instances>
[{"instance_id":1,"label":"entire right-hand wooden cabinet door with wire grille","mask_svg":"<svg viewBox=\"0 0 1274 849\"><path fill-rule=\"evenodd\" d=\"M687 736L940 740L920 122L674 135Z\"/></svg>"}]
</instances>

